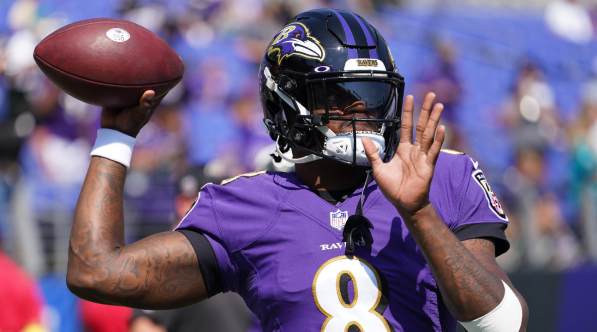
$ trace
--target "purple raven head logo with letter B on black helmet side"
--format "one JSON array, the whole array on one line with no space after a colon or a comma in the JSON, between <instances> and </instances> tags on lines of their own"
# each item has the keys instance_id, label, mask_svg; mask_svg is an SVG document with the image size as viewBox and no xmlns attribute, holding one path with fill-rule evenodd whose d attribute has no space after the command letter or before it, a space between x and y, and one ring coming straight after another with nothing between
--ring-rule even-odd
<instances>
[{"instance_id":1,"label":"purple raven head logo with letter B on black helmet side","mask_svg":"<svg viewBox=\"0 0 597 332\"><path fill-rule=\"evenodd\" d=\"M267 55L278 52L278 64L290 55L323 61L324 48L321 43L310 35L309 29L303 23L291 23L284 27L272 39L267 48Z\"/></svg>"}]
</instances>

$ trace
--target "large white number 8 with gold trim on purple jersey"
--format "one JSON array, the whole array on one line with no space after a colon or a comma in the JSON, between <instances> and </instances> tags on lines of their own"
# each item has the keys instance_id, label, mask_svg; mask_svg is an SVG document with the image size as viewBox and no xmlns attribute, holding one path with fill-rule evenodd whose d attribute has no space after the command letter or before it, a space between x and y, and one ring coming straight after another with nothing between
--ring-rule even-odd
<instances>
[{"instance_id":1,"label":"large white number 8 with gold trim on purple jersey","mask_svg":"<svg viewBox=\"0 0 597 332\"><path fill-rule=\"evenodd\" d=\"M347 296L349 281L354 288L352 303ZM394 331L381 316L387 307L384 288L376 268L362 258L346 255L325 262L313 279L313 299L327 316L321 332L346 332L350 327L362 332Z\"/></svg>"}]
</instances>

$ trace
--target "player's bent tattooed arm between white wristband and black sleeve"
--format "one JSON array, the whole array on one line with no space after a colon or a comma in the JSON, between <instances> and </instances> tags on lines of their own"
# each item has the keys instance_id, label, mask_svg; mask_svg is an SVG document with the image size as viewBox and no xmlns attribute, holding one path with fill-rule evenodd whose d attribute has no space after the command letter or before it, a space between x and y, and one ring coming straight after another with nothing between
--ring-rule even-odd
<instances>
[{"instance_id":1,"label":"player's bent tattooed arm between white wristband and black sleeve","mask_svg":"<svg viewBox=\"0 0 597 332\"><path fill-rule=\"evenodd\" d=\"M93 157L75 208L67 284L94 302L168 309L205 299L195 251L180 232L125 245L126 169Z\"/></svg>"}]
</instances>

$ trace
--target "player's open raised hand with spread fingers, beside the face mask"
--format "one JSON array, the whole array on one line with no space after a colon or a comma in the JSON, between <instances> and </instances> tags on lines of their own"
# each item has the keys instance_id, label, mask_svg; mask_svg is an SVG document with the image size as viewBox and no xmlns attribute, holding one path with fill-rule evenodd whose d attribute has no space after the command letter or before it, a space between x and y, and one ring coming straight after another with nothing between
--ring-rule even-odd
<instances>
[{"instance_id":1,"label":"player's open raised hand with spread fingers, beside the face mask","mask_svg":"<svg viewBox=\"0 0 597 332\"><path fill-rule=\"evenodd\" d=\"M425 97L413 141L414 98L408 95L402 112L402 129L396 154L383 163L373 142L363 138L365 153L373 169L373 178L387 200L402 216L414 214L429 204L429 189L445 128L439 126L444 106L435 104L435 94Z\"/></svg>"}]
</instances>

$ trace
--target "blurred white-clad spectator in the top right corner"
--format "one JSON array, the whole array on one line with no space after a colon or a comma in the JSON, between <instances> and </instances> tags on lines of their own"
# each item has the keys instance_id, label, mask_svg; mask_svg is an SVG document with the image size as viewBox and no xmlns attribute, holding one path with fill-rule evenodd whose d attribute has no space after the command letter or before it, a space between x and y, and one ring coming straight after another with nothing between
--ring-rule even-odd
<instances>
[{"instance_id":1,"label":"blurred white-clad spectator in the top right corner","mask_svg":"<svg viewBox=\"0 0 597 332\"><path fill-rule=\"evenodd\" d=\"M553 0L545 8L547 27L557 36L577 44L593 38L593 22L588 8L578 0Z\"/></svg>"}]
</instances>

